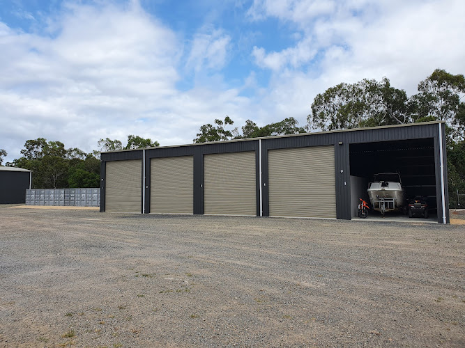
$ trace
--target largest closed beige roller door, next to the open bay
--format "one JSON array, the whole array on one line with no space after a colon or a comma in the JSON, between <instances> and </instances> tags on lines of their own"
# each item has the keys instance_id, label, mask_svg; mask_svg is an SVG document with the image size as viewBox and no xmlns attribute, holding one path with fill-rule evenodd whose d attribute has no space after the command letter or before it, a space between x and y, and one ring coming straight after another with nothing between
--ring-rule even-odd
<instances>
[{"instance_id":1,"label":"largest closed beige roller door, next to the open bay","mask_svg":"<svg viewBox=\"0 0 465 348\"><path fill-rule=\"evenodd\" d=\"M268 151L270 216L336 217L334 146Z\"/></svg>"}]
</instances>

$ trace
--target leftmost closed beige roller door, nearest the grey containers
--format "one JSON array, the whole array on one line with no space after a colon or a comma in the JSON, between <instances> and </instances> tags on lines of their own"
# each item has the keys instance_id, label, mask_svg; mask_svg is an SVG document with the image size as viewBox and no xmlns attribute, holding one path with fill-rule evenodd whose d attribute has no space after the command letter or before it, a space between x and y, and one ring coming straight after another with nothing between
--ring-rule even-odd
<instances>
[{"instance_id":1,"label":"leftmost closed beige roller door, nearest the grey containers","mask_svg":"<svg viewBox=\"0 0 465 348\"><path fill-rule=\"evenodd\" d=\"M107 161L105 175L105 211L141 212L142 161Z\"/></svg>"}]
</instances>

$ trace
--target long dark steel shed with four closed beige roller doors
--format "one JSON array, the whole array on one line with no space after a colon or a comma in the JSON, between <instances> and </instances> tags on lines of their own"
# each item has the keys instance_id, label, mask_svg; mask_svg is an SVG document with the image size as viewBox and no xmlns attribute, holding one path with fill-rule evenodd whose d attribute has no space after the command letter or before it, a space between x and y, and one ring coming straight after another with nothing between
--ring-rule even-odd
<instances>
[{"instance_id":1,"label":"long dark steel shed with four closed beige roller doors","mask_svg":"<svg viewBox=\"0 0 465 348\"><path fill-rule=\"evenodd\" d=\"M399 172L449 222L443 121L102 152L100 212L348 219L356 179Z\"/></svg>"}]
</instances>

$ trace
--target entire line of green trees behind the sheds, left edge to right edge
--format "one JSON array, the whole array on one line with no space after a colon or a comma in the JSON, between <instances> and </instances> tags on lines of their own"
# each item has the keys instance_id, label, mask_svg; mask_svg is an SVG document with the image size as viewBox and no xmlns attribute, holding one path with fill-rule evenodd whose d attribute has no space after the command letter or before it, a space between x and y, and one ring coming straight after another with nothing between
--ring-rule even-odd
<instances>
[{"instance_id":1,"label":"entire line of green trees behind the sheds, left edge to right edge","mask_svg":"<svg viewBox=\"0 0 465 348\"><path fill-rule=\"evenodd\" d=\"M436 69L418 84L418 93L408 97L405 90L391 86L388 78L381 81L363 79L355 84L338 84L314 97L307 116L307 125L299 127L293 118L259 126L246 120L239 130L226 116L213 124L201 125L194 143L228 141L328 131L359 127L396 125L429 120L446 122L448 151L448 183L451 207L458 190L465 193L465 78ZM66 149L60 141L43 138L28 140L21 150L22 157L7 163L30 169L34 188L98 187L100 178L100 151L156 147L158 141L128 135L123 147L119 140L98 141L98 149L86 153L78 148ZM0 149L0 165L6 151Z\"/></svg>"}]
</instances>

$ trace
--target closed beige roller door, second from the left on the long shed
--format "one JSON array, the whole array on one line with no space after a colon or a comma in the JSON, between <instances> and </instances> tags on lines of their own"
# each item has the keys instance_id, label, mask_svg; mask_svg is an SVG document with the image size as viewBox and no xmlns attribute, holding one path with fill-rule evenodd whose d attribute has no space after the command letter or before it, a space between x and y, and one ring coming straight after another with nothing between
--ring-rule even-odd
<instances>
[{"instance_id":1,"label":"closed beige roller door, second from the left on the long shed","mask_svg":"<svg viewBox=\"0 0 465 348\"><path fill-rule=\"evenodd\" d=\"M150 212L193 214L194 158L153 158L150 164Z\"/></svg>"}]
</instances>

